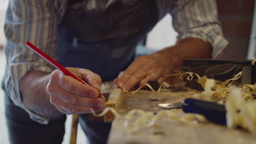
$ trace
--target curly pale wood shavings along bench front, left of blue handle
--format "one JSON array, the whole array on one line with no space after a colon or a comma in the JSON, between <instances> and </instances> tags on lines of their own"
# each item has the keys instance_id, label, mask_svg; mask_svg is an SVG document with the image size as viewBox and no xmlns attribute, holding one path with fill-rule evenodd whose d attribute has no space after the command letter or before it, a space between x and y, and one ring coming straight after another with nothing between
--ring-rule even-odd
<instances>
[{"instance_id":1,"label":"curly pale wood shavings along bench front, left of blue handle","mask_svg":"<svg viewBox=\"0 0 256 144\"><path fill-rule=\"evenodd\" d=\"M106 107L106 109L99 115L97 115L94 111L92 111L92 114L94 116L101 117L109 111L111 111L116 118L124 119L123 126L124 128L126 128L127 131L130 131L131 133L136 133L142 128L157 126L159 124L158 121L160 121L161 118L164 118L165 120L171 119L182 123L207 122L206 118L202 115L185 113L182 117L178 117L178 115L171 110L162 110L156 113L155 115L154 112L151 111L133 109L126 115L122 116L113 107Z\"/></svg>"}]
</instances>

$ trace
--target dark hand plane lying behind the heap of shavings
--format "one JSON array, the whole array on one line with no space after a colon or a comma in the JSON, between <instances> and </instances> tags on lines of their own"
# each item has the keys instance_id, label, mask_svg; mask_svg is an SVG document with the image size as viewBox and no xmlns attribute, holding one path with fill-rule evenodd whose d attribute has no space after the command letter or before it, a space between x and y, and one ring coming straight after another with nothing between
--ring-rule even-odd
<instances>
[{"instance_id":1,"label":"dark hand plane lying behind the heap of shavings","mask_svg":"<svg viewBox=\"0 0 256 144\"><path fill-rule=\"evenodd\" d=\"M223 61L216 59L187 59L183 62L185 67L189 67L188 72L198 74L200 77L206 76L208 79L226 81L243 71L241 79L236 82L244 84L254 84L256 82L256 65L251 65L252 60ZM188 76L188 75L187 75ZM186 77L186 76L185 76ZM184 77L184 78L185 78ZM197 77L188 81L184 79L187 87L203 91L202 86L197 83Z\"/></svg>"}]
</instances>

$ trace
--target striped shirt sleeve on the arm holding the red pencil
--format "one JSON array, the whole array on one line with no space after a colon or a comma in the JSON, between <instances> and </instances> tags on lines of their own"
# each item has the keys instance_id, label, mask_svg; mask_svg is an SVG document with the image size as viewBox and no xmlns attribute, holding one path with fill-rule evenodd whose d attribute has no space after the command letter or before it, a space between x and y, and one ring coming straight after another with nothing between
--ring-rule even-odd
<instances>
[{"instance_id":1,"label":"striped shirt sleeve on the arm holding the red pencil","mask_svg":"<svg viewBox=\"0 0 256 144\"><path fill-rule=\"evenodd\" d=\"M5 15L5 93L15 105L27 111L31 119L43 124L48 123L49 119L27 109L22 103L19 83L27 71L39 70L50 73L55 69L25 44L26 41L30 41L56 59L57 19L53 0L10 0Z\"/></svg>"}]
</instances>

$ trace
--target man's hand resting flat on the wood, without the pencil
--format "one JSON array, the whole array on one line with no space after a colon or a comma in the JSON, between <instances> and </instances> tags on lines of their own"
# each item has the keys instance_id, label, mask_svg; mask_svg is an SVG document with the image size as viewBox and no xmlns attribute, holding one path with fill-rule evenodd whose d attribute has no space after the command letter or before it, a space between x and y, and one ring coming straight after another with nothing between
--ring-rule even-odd
<instances>
[{"instance_id":1,"label":"man's hand resting flat on the wood, without the pencil","mask_svg":"<svg viewBox=\"0 0 256 144\"><path fill-rule=\"evenodd\" d=\"M149 80L159 80L160 77L170 74L171 71L182 64L182 59L165 53L164 51L153 55L140 56L114 80L115 85L130 90L135 85L148 83Z\"/></svg>"}]
</instances>

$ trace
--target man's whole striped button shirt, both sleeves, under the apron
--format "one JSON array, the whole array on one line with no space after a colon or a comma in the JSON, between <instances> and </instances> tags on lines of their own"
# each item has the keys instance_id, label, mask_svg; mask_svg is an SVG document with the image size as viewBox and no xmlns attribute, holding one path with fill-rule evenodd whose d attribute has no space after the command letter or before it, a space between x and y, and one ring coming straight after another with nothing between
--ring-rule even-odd
<instances>
[{"instance_id":1,"label":"man's whole striped button shirt, both sleeves, under the apron","mask_svg":"<svg viewBox=\"0 0 256 144\"><path fill-rule=\"evenodd\" d=\"M104 10L115 1L120 0L88 0L86 8ZM124 3L129 1L123 0ZM217 20L216 1L161 0L156 1L156 4L159 20L168 13L172 15L173 28L178 33L177 39L193 37L207 41L213 47L213 58L218 57L228 44L223 38ZM55 68L27 49L25 43L29 40L49 56L57 59L57 25L65 13L66 5L67 0L10 0L5 16L4 33L7 41L4 48L7 65L3 87L14 104L26 110L31 118L39 123L46 124L49 119L38 116L26 108L22 103L19 82L27 71L52 72Z\"/></svg>"}]
</instances>

